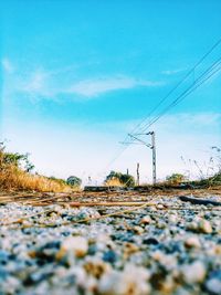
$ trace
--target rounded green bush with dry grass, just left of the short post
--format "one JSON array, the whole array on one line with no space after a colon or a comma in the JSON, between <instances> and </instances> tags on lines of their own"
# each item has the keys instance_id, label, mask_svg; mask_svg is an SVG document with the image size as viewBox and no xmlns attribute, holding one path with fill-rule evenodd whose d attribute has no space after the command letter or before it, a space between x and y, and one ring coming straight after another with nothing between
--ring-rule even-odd
<instances>
[{"instance_id":1,"label":"rounded green bush with dry grass, just left of the short post","mask_svg":"<svg viewBox=\"0 0 221 295\"><path fill-rule=\"evenodd\" d=\"M125 186L125 187L134 187L135 179L130 175L124 175L116 171L110 171L109 175L105 179L106 186Z\"/></svg>"}]
</instances>

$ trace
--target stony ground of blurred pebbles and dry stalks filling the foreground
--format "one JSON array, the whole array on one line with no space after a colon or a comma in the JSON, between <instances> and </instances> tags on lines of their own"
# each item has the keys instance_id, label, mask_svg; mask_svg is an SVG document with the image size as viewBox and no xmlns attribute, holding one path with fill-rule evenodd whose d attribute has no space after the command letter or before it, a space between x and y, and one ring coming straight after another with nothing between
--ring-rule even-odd
<instances>
[{"instance_id":1,"label":"stony ground of blurred pebbles and dry stalks filling the foreground","mask_svg":"<svg viewBox=\"0 0 221 295\"><path fill-rule=\"evenodd\" d=\"M221 294L221 208L178 194L2 192L0 294ZM125 200L146 203L69 204Z\"/></svg>"}]
</instances>

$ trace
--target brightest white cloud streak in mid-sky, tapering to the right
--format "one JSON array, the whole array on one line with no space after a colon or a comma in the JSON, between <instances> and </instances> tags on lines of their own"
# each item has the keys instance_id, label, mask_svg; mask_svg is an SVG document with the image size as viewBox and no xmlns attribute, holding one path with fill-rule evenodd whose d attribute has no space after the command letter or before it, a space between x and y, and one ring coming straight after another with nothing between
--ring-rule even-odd
<instances>
[{"instance_id":1,"label":"brightest white cloud streak in mid-sky, tapering to the right","mask_svg":"<svg viewBox=\"0 0 221 295\"><path fill-rule=\"evenodd\" d=\"M94 97L103 93L129 89L137 86L155 87L162 85L160 82L143 81L134 77L107 77L97 80L84 80L72 85L66 92L86 97Z\"/></svg>"}]
</instances>

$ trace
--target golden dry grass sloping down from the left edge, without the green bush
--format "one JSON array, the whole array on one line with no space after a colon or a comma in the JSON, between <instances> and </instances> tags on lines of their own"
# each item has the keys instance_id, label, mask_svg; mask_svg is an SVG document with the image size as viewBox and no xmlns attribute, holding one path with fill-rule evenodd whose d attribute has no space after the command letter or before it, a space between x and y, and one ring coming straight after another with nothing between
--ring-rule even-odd
<instances>
[{"instance_id":1,"label":"golden dry grass sloping down from the left edge, without the green bush","mask_svg":"<svg viewBox=\"0 0 221 295\"><path fill-rule=\"evenodd\" d=\"M0 150L0 188L4 190L35 190L41 192L71 192L70 186L44 176L31 175L3 161Z\"/></svg>"}]
</instances>

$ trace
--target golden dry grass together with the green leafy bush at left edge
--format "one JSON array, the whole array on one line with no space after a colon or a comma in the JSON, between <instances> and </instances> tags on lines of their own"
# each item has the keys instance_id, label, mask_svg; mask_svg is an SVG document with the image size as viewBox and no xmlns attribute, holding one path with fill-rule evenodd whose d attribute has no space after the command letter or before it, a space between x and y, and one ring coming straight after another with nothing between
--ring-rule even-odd
<instances>
[{"instance_id":1,"label":"golden dry grass together with the green leafy bush at left edge","mask_svg":"<svg viewBox=\"0 0 221 295\"><path fill-rule=\"evenodd\" d=\"M34 166L29 161L29 155L7 152L0 144L0 188L7 190L35 190L64 192L71 187L61 179L33 175Z\"/></svg>"}]
</instances>

